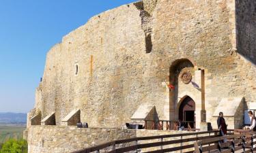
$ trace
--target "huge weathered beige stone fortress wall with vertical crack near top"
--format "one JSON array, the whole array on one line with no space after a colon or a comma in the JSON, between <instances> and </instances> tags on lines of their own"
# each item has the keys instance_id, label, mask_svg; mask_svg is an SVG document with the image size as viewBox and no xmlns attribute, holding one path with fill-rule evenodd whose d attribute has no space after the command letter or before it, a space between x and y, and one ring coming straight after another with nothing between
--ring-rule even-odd
<instances>
[{"instance_id":1,"label":"huge weathered beige stone fortress wall with vertical crack near top","mask_svg":"<svg viewBox=\"0 0 256 153\"><path fill-rule=\"evenodd\" d=\"M205 70L207 122L216 128L219 103L227 99L225 114L233 99L241 99L227 119L229 129L240 128L244 109L256 102L254 55L246 56L255 50L244 49L246 25L236 18L248 15L238 10L248 3L254 2L143 0L94 16L48 52L28 126L38 112L41 119L55 112L59 126L80 109L81 122L114 128L130 122L145 103L156 106L160 120L177 120L180 101L189 96L196 103L198 127L201 92L177 79L189 67L197 84L198 72ZM163 86L165 80L175 90Z\"/></svg>"}]
</instances>

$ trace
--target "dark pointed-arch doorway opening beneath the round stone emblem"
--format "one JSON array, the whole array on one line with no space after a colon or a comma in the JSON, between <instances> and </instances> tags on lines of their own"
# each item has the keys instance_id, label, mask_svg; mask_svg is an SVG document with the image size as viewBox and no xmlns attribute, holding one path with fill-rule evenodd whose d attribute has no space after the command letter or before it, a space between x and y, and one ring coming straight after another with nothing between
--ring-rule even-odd
<instances>
[{"instance_id":1,"label":"dark pointed-arch doorway opening beneath the round stone emblem","mask_svg":"<svg viewBox=\"0 0 256 153\"><path fill-rule=\"evenodd\" d=\"M184 122L185 128L195 128L195 101L186 97L179 108L179 120Z\"/></svg>"}]
</instances>

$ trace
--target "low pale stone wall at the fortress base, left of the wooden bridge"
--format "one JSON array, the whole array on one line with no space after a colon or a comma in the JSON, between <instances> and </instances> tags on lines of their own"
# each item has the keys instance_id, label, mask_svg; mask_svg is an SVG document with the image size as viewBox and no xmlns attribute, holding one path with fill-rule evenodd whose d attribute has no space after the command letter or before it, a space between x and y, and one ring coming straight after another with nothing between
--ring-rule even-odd
<instances>
[{"instance_id":1,"label":"low pale stone wall at the fortress base, left of the wooden bridge","mask_svg":"<svg viewBox=\"0 0 256 153\"><path fill-rule=\"evenodd\" d=\"M79 129L76 126L31 126L28 131L29 153L70 153L114 139L136 137L136 131L132 130Z\"/></svg>"}]
</instances>

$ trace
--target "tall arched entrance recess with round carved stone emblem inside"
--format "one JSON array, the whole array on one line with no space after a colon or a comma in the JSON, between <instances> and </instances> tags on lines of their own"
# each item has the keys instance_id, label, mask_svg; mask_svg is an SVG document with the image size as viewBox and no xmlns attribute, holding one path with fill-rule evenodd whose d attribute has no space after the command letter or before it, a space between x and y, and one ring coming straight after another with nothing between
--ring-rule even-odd
<instances>
[{"instance_id":1,"label":"tall arched entrance recess with round carved stone emblem inside","mask_svg":"<svg viewBox=\"0 0 256 153\"><path fill-rule=\"evenodd\" d=\"M186 109L186 102L191 98L184 97L181 101L179 98L183 97L184 93L194 94L195 89L190 84L190 81L195 76L194 64L188 58L177 59L171 63L169 74L169 82L175 86L173 90L169 90L170 120L184 120L185 115L180 113L179 108L183 109L184 107ZM195 102L193 106L194 109L190 111L195 112ZM186 112L187 115L192 113Z\"/></svg>"}]
</instances>

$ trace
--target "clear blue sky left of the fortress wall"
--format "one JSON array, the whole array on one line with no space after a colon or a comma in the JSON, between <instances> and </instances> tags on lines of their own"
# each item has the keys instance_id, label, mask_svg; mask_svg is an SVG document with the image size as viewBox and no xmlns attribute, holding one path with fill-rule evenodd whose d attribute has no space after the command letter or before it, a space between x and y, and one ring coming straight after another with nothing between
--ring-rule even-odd
<instances>
[{"instance_id":1,"label":"clear blue sky left of the fortress wall","mask_svg":"<svg viewBox=\"0 0 256 153\"><path fill-rule=\"evenodd\" d=\"M46 52L91 16L134 0L0 0L0 112L29 112Z\"/></svg>"}]
</instances>

